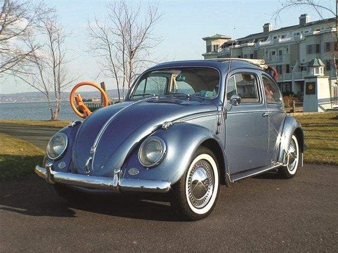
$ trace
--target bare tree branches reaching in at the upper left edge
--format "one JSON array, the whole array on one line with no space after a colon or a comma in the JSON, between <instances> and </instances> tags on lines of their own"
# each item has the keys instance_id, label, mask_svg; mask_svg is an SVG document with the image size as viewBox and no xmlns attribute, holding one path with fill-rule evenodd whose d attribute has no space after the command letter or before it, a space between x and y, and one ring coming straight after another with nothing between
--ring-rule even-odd
<instances>
[{"instance_id":1,"label":"bare tree branches reaching in at the upper left edge","mask_svg":"<svg viewBox=\"0 0 338 253\"><path fill-rule=\"evenodd\" d=\"M36 28L38 5L28 1L2 0L0 5L0 76L22 73L28 57L38 49L27 45L28 38ZM46 13L40 11L39 15Z\"/></svg>"}]
</instances>

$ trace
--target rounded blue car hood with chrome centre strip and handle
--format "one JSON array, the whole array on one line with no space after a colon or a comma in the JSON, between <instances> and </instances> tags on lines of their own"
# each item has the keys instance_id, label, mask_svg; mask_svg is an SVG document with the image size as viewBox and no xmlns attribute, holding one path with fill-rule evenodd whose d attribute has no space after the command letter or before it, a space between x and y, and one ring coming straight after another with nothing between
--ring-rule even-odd
<instances>
[{"instance_id":1,"label":"rounded blue car hood with chrome centre strip and handle","mask_svg":"<svg viewBox=\"0 0 338 253\"><path fill-rule=\"evenodd\" d=\"M86 162L92 157L87 173L112 176L112 170L120 169L129 152L156 127L216 110L212 101L192 97L150 98L99 109L78 130L73 146L73 172L85 174Z\"/></svg>"}]
</instances>

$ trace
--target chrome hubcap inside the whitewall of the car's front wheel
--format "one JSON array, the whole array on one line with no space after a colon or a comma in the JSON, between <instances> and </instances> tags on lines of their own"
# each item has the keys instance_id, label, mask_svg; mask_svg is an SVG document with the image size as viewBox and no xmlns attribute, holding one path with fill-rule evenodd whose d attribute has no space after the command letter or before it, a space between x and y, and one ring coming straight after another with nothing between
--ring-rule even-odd
<instances>
[{"instance_id":1,"label":"chrome hubcap inside the whitewall of the car's front wheel","mask_svg":"<svg viewBox=\"0 0 338 253\"><path fill-rule=\"evenodd\" d=\"M195 208L208 204L214 187L214 175L211 165L205 160L194 164L188 175L188 196Z\"/></svg>"}]
</instances>

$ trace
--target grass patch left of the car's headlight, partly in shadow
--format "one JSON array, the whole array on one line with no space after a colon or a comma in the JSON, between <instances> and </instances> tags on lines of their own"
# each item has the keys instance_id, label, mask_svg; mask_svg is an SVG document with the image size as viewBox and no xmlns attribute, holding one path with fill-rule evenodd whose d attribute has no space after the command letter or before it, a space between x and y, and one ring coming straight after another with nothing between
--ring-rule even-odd
<instances>
[{"instance_id":1,"label":"grass patch left of the car's headlight, partly in shadow","mask_svg":"<svg viewBox=\"0 0 338 253\"><path fill-rule=\"evenodd\" d=\"M33 144L0 132L0 180L33 173L44 155Z\"/></svg>"}]
</instances>

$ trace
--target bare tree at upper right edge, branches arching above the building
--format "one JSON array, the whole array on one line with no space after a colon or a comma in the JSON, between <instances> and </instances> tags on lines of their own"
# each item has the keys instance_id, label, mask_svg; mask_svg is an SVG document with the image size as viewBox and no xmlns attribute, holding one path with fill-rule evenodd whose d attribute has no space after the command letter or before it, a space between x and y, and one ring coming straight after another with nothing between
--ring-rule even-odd
<instances>
[{"instance_id":1,"label":"bare tree at upper right edge, branches arching above the building","mask_svg":"<svg viewBox=\"0 0 338 253\"><path fill-rule=\"evenodd\" d=\"M336 31L334 32L335 37L335 45L334 51L332 52L332 58L335 65L336 70L336 80L338 84L338 66L337 66L337 59L338 59L338 0L336 1L336 8L332 8L330 3L332 1L321 1L321 0L280 0L281 7L273 13L275 20L277 20L283 11L287 11L288 9L295 8L295 7L310 7L314 9L317 14L320 16L321 19L324 19L323 12L329 13L330 16L336 18ZM329 5L328 5L329 4Z\"/></svg>"}]
</instances>

